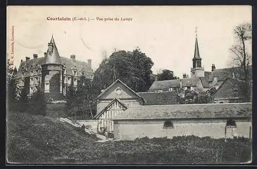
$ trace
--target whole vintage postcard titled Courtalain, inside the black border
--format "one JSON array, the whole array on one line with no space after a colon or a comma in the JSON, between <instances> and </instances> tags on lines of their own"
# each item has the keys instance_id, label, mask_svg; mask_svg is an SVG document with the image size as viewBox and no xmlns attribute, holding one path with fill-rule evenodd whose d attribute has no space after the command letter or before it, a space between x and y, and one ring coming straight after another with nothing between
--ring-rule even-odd
<instances>
[{"instance_id":1,"label":"whole vintage postcard titled Courtalain, inside the black border","mask_svg":"<svg viewBox=\"0 0 257 169\"><path fill-rule=\"evenodd\" d=\"M252 161L251 6L8 6L6 164Z\"/></svg>"}]
</instances>

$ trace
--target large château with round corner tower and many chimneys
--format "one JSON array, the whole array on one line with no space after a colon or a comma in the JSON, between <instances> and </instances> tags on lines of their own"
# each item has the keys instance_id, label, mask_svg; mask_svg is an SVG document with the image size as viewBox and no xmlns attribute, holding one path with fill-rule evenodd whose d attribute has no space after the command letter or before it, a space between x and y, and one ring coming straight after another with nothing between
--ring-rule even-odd
<instances>
[{"instance_id":1,"label":"large ch\u00e2teau with round corner tower and many chimneys","mask_svg":"<svg viewBox=\"0 0 257 169\"><path fill-rule=\"evenodd\" d=\"M76 88L78 77L82 74L87 79L93 79L94 75L90 59L86 63L76 60L74 54L70 58L61 57L53 36L44 57L38 58L38 54L33 54L33 59L26 57L25 61L21 60L19 69L14 69L14 74L19 86L24 87L28 95L41 85L46 97L53 100L63 99L67 86Z\"/></svg>"}]
</instances>

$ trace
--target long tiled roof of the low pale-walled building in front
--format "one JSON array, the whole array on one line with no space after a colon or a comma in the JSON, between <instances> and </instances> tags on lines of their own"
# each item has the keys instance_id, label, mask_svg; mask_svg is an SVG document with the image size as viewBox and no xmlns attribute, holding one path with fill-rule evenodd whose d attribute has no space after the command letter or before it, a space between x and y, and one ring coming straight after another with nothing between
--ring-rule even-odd
<instances>
[{"instance_id":1,"label":"long tiled roof of the low pale-walled building in front","mask_svg":"<svg viewBox=\"0 0 257 169\"><path fill-rule=\"evenodd\" d=\"M252 117L252 103L132 106L113 120Z\"/></svg>"}]
</instances>

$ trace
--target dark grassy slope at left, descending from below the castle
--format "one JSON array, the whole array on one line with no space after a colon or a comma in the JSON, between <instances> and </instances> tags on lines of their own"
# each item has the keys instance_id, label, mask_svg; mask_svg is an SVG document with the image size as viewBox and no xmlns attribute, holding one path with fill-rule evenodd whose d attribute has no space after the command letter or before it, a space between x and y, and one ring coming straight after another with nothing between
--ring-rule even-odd
<instances>
[{"instance_id":1,"label":"dark grassy slope at left, descending from below the castle","mask_svg":"<svg viewBox=\"0 0 257 169\"><path fill-rule=\"evenodd\" d=\"M26 113L7 117L7 135L7 159L19 163L75 162L72 151L97 141L58 118Z\"/></svg>"}]
</instances>

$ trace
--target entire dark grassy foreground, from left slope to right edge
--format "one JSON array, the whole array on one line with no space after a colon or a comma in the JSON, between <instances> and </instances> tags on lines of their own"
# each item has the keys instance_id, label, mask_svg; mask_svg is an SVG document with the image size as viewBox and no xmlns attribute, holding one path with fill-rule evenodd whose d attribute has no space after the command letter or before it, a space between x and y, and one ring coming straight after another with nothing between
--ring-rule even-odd
<instances>
[{"instance_id":1,"label":"entire dark grassy foreground, from left slope to right edge","mask_svg":"<svg viewBox=\"0 0 257 169\"><path fill-rule=\"evenodd\" d=\"M251 159L251 144L245 138L225 142L187 136L96 143L95 136L57 118L12 113L7 120L8 162L193 164L239 163Z\"/></svg>"}]
</instances>

